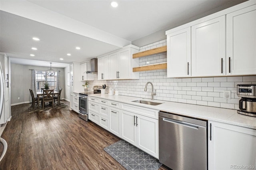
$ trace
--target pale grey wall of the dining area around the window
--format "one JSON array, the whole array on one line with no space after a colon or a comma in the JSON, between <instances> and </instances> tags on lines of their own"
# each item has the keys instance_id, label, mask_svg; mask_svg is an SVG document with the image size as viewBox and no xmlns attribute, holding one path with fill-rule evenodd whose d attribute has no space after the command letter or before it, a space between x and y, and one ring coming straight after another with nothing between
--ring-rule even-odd
<instances>
[{"instance_id":1,"label":"pale grey wall of the dining area around the window","mask_svg":"<svg viewBox=\"0 0 256 170\"><path fill-rule=\"evenodd\" d=\"M49 67L39 67L33 65L21 65L11 63L11 105L28 103L30 99L30 83L31 83L31 70L47 70ZM62 87L61 98L65 96L65 88L63 87L65 76L64 68L52 68L60 70L60 87ZM20 99L18 99L20 97Z\"/></svg>"}]
</instances>

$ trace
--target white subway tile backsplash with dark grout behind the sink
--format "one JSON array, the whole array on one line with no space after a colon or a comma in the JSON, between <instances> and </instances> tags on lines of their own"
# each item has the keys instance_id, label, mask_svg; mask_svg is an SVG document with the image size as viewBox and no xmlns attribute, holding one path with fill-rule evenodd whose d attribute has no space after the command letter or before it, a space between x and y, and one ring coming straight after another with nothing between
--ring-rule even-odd
<instances>
[{"instance_id":1,"label":"white subway tile backsplash with dark grout behind the sink","mask_svg":"<svg viewBox=\"0 0 256 170\"><path fill-rule=\"evenodd\" d=\"M166 45L166 40L151 43L140 47L140 52L164 45ZM166 52L141 57L140 66L166 63L166 57ZM150 81L156 90L156 96L154 96L156 100L228 109L238 109L240 97L236 95L237 84L256 83L256 76L169 78L166 69L140 71L138 80L102 81L97 80L97 75L94 76L95 81L89 81L90 89L94 85L106 84L107 91L108 88L114 87L119 90L119 95L151 99L151 85L148 85L148 91L144 91L146 83ZM223 98L224 90L231 91L231 99Z\"/></svg>"}]
</instances>

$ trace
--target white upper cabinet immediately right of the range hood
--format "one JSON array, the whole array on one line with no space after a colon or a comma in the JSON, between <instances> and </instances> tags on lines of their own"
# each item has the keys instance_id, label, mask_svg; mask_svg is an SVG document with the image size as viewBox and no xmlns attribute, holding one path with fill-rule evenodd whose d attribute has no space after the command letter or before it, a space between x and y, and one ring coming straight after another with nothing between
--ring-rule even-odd
<instances>
[{"instance_id":1,"label":"white upper cabinet immediately right of the range hood","mask_svg":"<svg viewBox=\"0 0 256 170\"><path fill-rule=\"evenodd\" d=\"M109 79L108 55L98 58L98 80Z\"/></svg>"}]
</instances>

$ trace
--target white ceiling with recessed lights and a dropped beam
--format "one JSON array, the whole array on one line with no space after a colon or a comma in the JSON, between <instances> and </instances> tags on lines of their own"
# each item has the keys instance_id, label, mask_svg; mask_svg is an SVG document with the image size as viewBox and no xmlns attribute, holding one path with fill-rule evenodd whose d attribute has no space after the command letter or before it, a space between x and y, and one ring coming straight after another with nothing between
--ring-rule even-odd
<instances>
[{"instance_id":1,"label":"white ceiling with recessed lights and a dropped beam","mask_svg":"<svg viewBox=\"0 0 256 170\"><path fill-rule=\"evenodd\" d=\"M112 8L110 2L0 0L0 51L16 63L22 59L27 59L23 64L31 65L31 59L36 63L47 61L41 66L52 62L53 67L54 63L80 63L184 24L189 18L202 17L220 6L222 10L232 6L231 2L242 1L119 0L117 8ZM40 41L35 42L32 37ZM81 49L75 49L76 46ZM34 57L30 56L32 53Z\"/></svg>"}]
</instances>

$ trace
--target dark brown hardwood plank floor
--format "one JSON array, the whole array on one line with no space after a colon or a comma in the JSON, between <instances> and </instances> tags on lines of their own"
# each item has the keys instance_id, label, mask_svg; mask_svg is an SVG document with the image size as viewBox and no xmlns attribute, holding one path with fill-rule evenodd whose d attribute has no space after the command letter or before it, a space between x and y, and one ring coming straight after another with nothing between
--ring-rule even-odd
<instances>
[{"instance_id":1,"label":"dark brown hardwood plank floor","mask_svg":"<svg viewBox=\"0 0 256 170\"><path fill-rule=\"evenodd\" d=\"M125 170L103 150L120 138L69 107L28 113L28 104L12 106L2 138L8 149L1 170Z\"/></svg>"}]
</instances>

